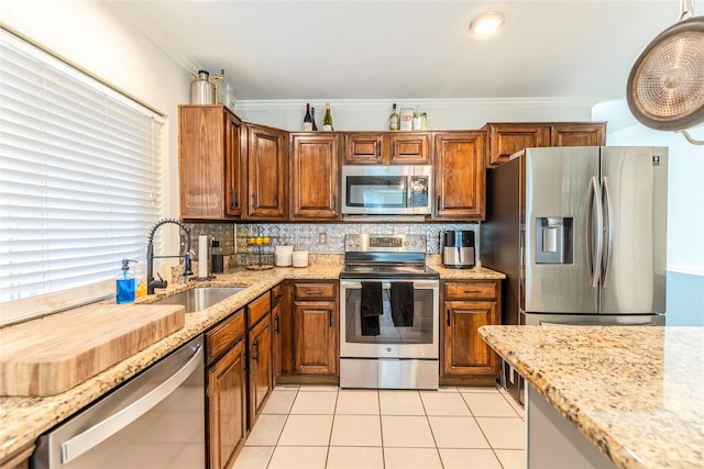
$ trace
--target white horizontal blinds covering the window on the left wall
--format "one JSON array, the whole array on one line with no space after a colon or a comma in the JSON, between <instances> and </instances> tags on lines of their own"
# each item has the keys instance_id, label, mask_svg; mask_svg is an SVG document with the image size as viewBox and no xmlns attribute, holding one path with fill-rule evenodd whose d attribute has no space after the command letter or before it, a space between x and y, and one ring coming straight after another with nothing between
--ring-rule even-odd
<instances>
[{"instance_id":1,"label":"white horizontal blinds covering the window on the left wall","mask_svg":"<svg viewBox=\"0 0 704 469\"><path fill-rule=\"evenodd\" d=\"M113 295L121 259L144 264L162 215L164 122L0 34L2 325Z\"/></svg>"}]
</instances>

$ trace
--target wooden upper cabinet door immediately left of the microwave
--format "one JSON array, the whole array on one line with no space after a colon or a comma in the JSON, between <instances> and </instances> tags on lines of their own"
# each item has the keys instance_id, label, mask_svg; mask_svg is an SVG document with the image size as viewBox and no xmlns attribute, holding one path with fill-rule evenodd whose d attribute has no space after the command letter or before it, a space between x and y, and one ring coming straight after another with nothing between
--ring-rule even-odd
<instances>
[{"instance_id":1,"label":"wooden upper cabinet door immediately left of the microwave","mask_svg":"<svg viewBox=\"0 0 704 469\"><path fill-rule=\"evenodd\" d=\"M292 136L292 220L337 220L338 136Z\"/></svg>"}]
</instances>

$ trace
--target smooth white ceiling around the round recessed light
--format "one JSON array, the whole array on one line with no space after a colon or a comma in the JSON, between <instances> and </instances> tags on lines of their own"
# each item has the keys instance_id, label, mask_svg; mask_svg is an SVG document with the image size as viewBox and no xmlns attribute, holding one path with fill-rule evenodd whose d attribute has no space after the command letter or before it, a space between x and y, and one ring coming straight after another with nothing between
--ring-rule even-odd
<instances>
[{"instance_id":1,"label":"smooth white ceiling around the round recessed light","mask_svg":"<svg viewBox=\"0 0 704 469\"><path fill-rule=\"evenodd\" d=\"M221 68L238 100L625 97L679 0L111 1L186 68ZM494 36L468 24L506 14Z\"/></svg>"}]
</instances>

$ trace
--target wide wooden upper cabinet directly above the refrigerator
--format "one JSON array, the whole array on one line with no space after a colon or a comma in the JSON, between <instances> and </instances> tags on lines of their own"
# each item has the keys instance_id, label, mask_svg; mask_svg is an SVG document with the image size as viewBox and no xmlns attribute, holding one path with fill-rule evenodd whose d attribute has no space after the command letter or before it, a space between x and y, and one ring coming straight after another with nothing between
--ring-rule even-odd
<instances>
[{"instance_id":1,"label":"wide wooden upper cabinet directly above the refrigerator","mask_svg":"<svg viewBox=\"0 0 704 469\"><path fill-rule=\"evenodd\" d=\"M486 124L486 166L508 161L524 148L541 146L601 146L606 144L605 122L502 123Z\"/></svg>"}]
</instances>

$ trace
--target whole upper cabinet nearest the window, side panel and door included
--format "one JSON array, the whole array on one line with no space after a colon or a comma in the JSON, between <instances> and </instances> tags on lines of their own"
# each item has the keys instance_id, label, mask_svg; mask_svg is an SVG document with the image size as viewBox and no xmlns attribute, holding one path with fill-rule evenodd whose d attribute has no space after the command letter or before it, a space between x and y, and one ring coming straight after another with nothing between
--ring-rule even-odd
<instances>
[{"instance_id":1,"label":"whole upper cabinet nearest the window, side panel and door included","mask_svg":"<svg viewBox=\"0 0 704 469\"><path fill-rule=\"evenodd\" d=\"M222 105L178 107L180 216L223 220L242 213L242 122Z\"/></svg>"}]
</instances>

